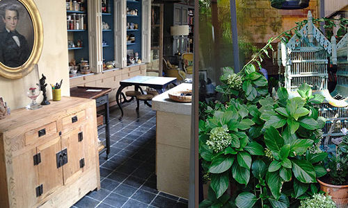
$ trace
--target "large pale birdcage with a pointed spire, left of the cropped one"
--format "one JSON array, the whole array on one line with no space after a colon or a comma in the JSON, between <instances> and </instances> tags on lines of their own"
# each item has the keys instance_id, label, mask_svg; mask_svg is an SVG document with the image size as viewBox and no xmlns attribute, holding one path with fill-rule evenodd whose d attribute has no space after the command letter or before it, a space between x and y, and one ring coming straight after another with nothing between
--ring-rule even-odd
<instances>
[{"instance_id":1,"label":"large pale birdcage with a pointed spire, left of the cropped one","mask_svg":"<svg viewBox=\"0 0 348 208\"><path fill-rule=\"evenodd\" d=\"M282 63L285 67L285 88L296 91L303 83L313 90L327 89L327 64L331 55L331 42L313 24L308 11L308 23L281 46Z\"/></svg>"}]
</instances>

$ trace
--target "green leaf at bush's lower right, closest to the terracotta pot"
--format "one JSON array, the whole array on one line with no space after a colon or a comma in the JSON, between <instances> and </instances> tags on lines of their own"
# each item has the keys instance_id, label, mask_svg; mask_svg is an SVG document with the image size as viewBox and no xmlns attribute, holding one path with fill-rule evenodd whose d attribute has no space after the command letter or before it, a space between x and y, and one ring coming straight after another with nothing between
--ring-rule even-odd
<instances>
[{"instance_id":1,"label":"green leaf at bush's lower right, closest to the terracotta pot","mask_svg":"<svg viewBox=\"0 0 348 208\"><path fill-rule=\"evenodd\" d=\"M299 182L303 183L315 183L316 175L315 169L310 162L306 160L293 159L292 160L292 172Z\"/></svg>"}]
</instances>

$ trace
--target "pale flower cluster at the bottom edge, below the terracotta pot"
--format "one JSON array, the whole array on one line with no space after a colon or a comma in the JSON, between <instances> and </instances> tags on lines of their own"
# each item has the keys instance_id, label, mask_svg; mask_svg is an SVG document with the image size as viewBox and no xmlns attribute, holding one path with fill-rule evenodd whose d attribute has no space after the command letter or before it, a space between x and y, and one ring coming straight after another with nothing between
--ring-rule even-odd
<instances>
[{"instance_id":1,"label":"pale flower cluster at the bottom edge, below the terracotta pot","mask_svg":"<svg viewBox=\"0 0 348 208\"><path fill-rule=\"evenodd\" d=\"M336 208L335 202L331 196L324 196L322 193L316 193L313 198L301 200L299 208Z\"/></svg>"}]
</instances>

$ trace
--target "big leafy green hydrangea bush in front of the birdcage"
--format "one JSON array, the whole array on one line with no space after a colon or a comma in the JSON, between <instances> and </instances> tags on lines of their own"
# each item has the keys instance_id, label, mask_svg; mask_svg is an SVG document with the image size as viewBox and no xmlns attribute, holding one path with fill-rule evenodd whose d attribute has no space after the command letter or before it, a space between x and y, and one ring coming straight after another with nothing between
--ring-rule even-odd
<instances>
[{"instance_id":1,"label":"big leafy green hydrangea bush in front of the birdcage","mask_svg":"<svg viewBox=\"0 0 348 208\"><path fill-rule=\"evenodd\" d=\"M206 106L199 123L200 157L211 178L210 197L200 207L290 207L317 193L316 178L326 174L327 154L310 151L325 122L314 104L324 97L304 84L301 97L280 88L274 100L264 76L252 64L245 69L223 70L224 85L216 89L224 98L214 109ZM226 194L231 183L238 187L235 200Z\"/></svg>"}]
</instances>

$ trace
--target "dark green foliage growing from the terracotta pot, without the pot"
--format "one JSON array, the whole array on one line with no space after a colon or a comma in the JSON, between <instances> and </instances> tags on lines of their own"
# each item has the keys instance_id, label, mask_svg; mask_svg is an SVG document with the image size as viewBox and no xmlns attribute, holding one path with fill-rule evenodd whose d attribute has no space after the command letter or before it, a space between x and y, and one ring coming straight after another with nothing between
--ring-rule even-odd
<instances>
[{"instance_id":1,"label":"dark green foliage growing from the terracotta pot, without the pot","mask_svg":"<svg viewBox=\"0 0 348 208\"><path fill-rule=\"evenodd\" d=\"M347 185L348 184L348 135L342 138L338 145L337 155L331 155L327 159L327 168L329 168L326 180L329 184Z\"/></svg>"}]
</instances>

